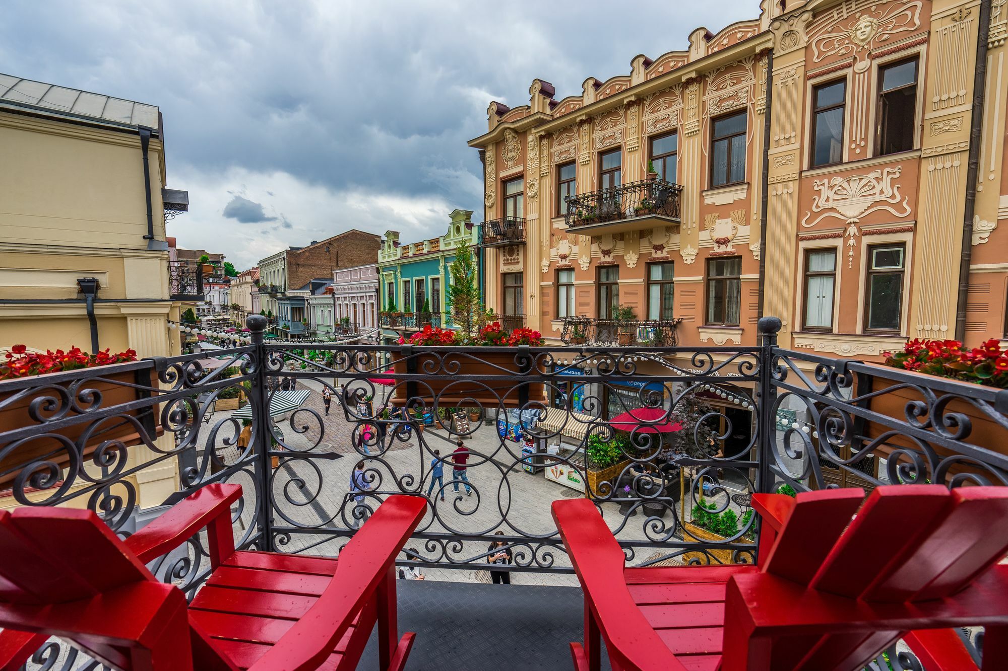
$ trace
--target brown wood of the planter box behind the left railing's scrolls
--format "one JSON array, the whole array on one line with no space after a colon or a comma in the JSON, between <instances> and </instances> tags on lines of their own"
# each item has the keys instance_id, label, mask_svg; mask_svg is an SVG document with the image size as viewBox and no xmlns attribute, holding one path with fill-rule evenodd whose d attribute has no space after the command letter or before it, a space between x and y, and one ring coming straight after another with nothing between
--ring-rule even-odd
<instances>
[{"instance_id":1,"label":"brown wood of the planter box behind the left railing's scrolls","mask_svg":"<svg viewBox=\"0 0 1008 671\"><path fill-rule=\"evenodd\" d=\"M88 370L88 374L96 378L102 377L108 380L116 380L127 384L141 384L152 388L157 387L157 376L155 375L153 369L140 371L135 369L128 371L116 370L121 369L123 365L121 364L113 364L111 366L93 368ZM59 374L53 373L50 375L55 376ZM37 383L38 385L43 385L45 384L46 377L48 376L39 375L31 378L31 381L33 383ZM58 386L66 388L69 384L70 383L62 383ZM135 387L114 384L113 382L105 382L102 380L94 380L85 384L78 390L78 394L80 395L80 392L85 389L95 389L101 393L101 408L110 408L145 397L145 392L143 390L136 389ZM17 393L18 392L0 393L0 406L2 406L2 409L0 409L0 432L12 431L26 426L37 426L38 433L56 433L77 442L82 434L93 428L95 422L99 421L84 421L80 424L74 424L62 429L51 430L47 428L45 424L39 424L32 419L28 409L31 402L36 398L53 397L54 392L52 391L52 388L49 387L39 389L38 392L33 395L26 395L10 405L4 405L8 399L15 396ZM83 399L79 399L79 405L84 408L89 407L89 404ZM42 414L46 416L51 415L51 413L47 412L43 412ZM77 413L71 409L66 416L73 417L79 414L82 413ZM132 410L128 413L124 412L123 414L132 415L137 418L140 424L147 426L147 437L151 440L164 432L164 429L161 427L161 416L158 411L157 404L143 407L138 410ZM127 446L137 445L142 442L140 437L141 433L130 420L124 419L123 417L113 416L106 417L100 421L100 427L98 430L91 433L87 444L84 446L83 454L81 454L82 460L83 457L91 455L95 449L106 440L121 440ZM153 431L150 430L150 427L153 427ZM67 467L71 460L66 445L55 438L27 440L13 452L0 458L0 490L11 487L11 483L17 478L22 467L39 459L51 461L60 468Z\"/></svg>"}]
</instances>

